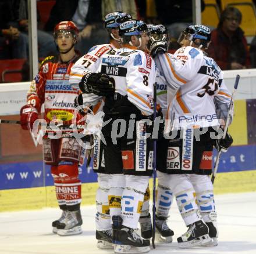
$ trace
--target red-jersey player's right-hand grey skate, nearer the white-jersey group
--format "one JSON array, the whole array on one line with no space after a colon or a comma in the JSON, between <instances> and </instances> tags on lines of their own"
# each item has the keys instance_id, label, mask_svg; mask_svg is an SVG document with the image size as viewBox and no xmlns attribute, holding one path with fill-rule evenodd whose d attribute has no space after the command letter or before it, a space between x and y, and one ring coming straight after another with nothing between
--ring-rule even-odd
<instances>
[{"instance_id":1,"label":"red-jersey player's right-hand grey skate, nearer the white-jersey group","mask_svg":"<svg viewBox=\"0 0 256 254\"><path fill-rule=\"evenodd\" d=\"M65 220L57 226L57 234L61 236L81 234L81 224L83 220L80 210L68 211Z\"/></svg>"}]
</instances>

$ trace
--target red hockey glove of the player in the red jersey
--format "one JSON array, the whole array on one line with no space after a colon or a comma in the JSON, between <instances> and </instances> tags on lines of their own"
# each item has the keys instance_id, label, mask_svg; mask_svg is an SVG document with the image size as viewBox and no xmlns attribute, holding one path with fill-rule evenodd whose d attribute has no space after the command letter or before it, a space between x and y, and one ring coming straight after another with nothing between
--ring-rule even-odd
<instances>
[{"instance_id":1,"label":"red hockey glove of the player in the red jersey","mask_svg":"<svg viewBox=\"0 0 256 254\"><path fill-rule=\"evenodd\" d=\"M34 121L38 119L38 112L35 107L25 105L20 108L20 125L23 130L32 130Z\"/></svg>"}]
</instances>

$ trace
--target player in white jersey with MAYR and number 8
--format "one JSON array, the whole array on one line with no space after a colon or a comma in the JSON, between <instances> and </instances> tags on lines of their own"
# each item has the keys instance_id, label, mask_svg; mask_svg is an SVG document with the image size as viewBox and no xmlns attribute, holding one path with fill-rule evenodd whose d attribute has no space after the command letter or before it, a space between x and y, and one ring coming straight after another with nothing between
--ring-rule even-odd
<instances>
[{"instance_id":1,"label":"player in white jersey with MAYR and number 8","mask_svg":"<svg viewBox=\"0 0 256 254\"><path fill-rule=\"evenodd\" d=\"M112 216L113 242L117 253L150 251L150 241L137 235L141 206L152 175L152 140L145 139L148 126L144 120L152 117L152 93L155 82L155 64L147 53L138 50L149 40L147 25L130 20L119 27L121 49L112 49L101 57L96 73L85 73L79 84L84 93L105 96L102 127L105 170L110 174L110 187L124 188L109 205L122 197L122 211ZM104 79L102 79L104 78ZM143 120L143 121L141 121ZM118 122L125 123L122 135L113 135ZM130 124L131 123L131 124ZM131 129L127 127L131 126ZM125 127L124 127L125 126ZM124 128L124 129L123 129ZM125 174L125 177L122 174Z\"/></svg>"}]
</instances>

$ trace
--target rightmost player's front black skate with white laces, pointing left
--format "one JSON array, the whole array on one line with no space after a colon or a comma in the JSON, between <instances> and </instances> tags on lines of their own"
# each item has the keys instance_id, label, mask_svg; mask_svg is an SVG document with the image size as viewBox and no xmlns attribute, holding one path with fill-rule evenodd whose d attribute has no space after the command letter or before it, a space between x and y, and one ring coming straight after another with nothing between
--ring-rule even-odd
<instances>
[{"instance_id":1,"label":"rightmost player's front black skate with white laces, pointing left","mask_svg":"<svg viewBox=\"0 0 256 254\"><path fill-rule=\"evenodd\" d=\"M209 228L202 221L194 222L189 225L189 229L181 237L177 238L179 248L191 248L194 246L205 246L210 244L212 239L209 237Z\"/></svg>"}]
</instances>

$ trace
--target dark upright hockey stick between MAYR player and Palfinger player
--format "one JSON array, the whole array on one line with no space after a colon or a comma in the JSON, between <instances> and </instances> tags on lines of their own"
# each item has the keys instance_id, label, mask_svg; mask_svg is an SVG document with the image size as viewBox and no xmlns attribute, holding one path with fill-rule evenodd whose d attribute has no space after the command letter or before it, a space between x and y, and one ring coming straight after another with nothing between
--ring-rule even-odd
<instances>
[{"instance_id":1,"label":"dark upright hockey stick between MAYR player and Palfinger player","mask_svg":"<svg viewBox=\"0 0 256 254\"><path fill-rule=\"evenodd\" d=\"M157 117L157 84L154 84L154 123ZM155 182L157 178L157 140L154 139L154 152L153 152L153 205L152 205L152 246L155 249Z\"/></svg>"}]
</instances>

